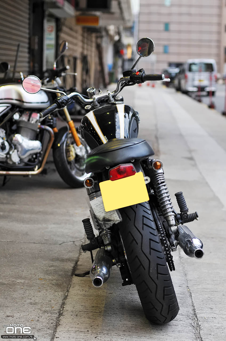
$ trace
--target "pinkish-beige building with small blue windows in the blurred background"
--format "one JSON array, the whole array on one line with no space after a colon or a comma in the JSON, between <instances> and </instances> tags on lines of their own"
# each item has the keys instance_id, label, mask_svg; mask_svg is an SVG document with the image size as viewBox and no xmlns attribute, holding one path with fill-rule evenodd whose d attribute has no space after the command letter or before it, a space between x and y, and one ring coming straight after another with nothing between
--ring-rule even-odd
<instances>
[{"instance_id":1,"label":"pinkish-beige building with small blue windows in the blurred background","mask_svg":"<svg viewBox=\"0 0 226 341\"><path fill-rule=\"evenodd\" d=\"M153 56L139 66L160 73L189 58L213 58L218 72L226 62L225 0L140 0L139 38L155 42Z\"/></svg>"}]
</instances>

